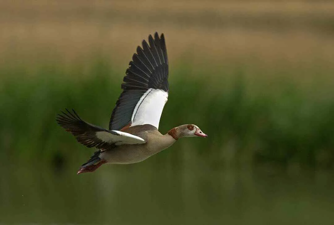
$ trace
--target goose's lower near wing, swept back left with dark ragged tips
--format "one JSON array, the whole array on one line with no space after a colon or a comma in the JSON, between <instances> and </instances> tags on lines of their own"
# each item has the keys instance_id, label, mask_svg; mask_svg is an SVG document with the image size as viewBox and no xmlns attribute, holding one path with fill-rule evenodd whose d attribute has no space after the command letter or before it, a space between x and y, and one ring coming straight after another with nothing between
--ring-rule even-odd
<instances>
[{"instance_id":1,"label":"goose's lower near wing, swept back left with dark ragged tips","mask_svg":"<svg viewBox=\"0 0 334 225\"><path fill-rule=\"evenodd\" d=\"M91 148L96 147L102 150L109 150L115 145L122 144L143 144L146 141L136 135L118 131L106 130L99 126L83 121L73 110L73 113L66 109L67 113L58 114L56 121L66 131L73 134L76 140Z\"/></svg>"}]
</instances>

